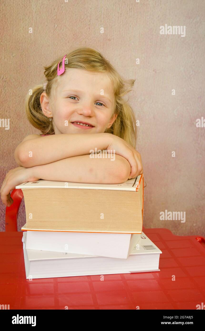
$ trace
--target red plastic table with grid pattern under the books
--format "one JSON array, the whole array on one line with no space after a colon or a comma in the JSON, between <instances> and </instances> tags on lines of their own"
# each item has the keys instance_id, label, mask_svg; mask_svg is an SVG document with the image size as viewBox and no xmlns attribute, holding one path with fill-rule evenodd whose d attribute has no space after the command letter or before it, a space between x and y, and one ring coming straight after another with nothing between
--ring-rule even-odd
<instances>
[{"instance_id":1,"label":"red plastic table with grid pattern under the books","mask_svg":"<svg viewBox=\"0 0 205 331\"><path fill-rule=\"evenodd\" d=\"M0 232L0 304L10 309L196 309L205 304L205 241L143 232L162 251L158 272L26 279L22 232ZM176 280L172 281L175 275Z\"/></svg>"}]
</instances>

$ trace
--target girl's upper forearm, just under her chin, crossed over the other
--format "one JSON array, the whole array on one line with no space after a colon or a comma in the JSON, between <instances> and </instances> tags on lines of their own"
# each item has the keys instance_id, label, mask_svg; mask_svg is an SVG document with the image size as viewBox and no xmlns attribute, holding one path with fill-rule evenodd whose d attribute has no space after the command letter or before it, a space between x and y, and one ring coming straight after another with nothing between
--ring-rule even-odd
<instances>
[{"instance_id":1,"label":"girl's upper forearm, just under her chin, crossed over the other","mask_svg":"<svg viewBox=\"0 0 205 331\"><path fill-rule=\"evenodd\" d=\"M86 155L95 148L106 149L111 138L109 133L50 135L25 141L19 153L23 154L22 165L28 168Z\"/></svg>"}]
</instances>

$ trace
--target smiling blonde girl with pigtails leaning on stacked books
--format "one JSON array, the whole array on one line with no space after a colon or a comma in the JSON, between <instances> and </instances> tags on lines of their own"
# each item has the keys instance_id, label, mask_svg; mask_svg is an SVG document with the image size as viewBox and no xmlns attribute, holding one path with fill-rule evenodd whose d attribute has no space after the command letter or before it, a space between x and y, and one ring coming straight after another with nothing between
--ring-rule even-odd
<instances>
[{"instance_id":1,"label":"smiling blonde girl with pigtails leaning on stacked books","mask_svg":"<svg viewBox=\"0 0 205 331\"><path fill-rule=\"evenodd\" d=\"M124 80L102 54L86 47L44 69L47 83L26 97L27 118L42 134L28 135L15 149L19 166L4 179L2 202L11 206L10 191L27 181L118 184L142 174L136 120L123 99L135 80ZM91 158L91 150L111 151L115 160Z\"/></svg>"}]
</instances>

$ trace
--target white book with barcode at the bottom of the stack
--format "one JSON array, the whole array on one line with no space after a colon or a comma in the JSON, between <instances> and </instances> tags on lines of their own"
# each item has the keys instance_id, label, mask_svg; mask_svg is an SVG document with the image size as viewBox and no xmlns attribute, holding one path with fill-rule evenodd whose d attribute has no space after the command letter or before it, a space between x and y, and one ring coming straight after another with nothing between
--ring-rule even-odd
<instances>
[{"instance_id":1,"label":"white book with barcode at the bottom of the stack","mask_svg":"<svg viewBox=\"0 0 205 331\"><path fill-rule=\"evenodd\" d=\"M126 260L29 250L26 249L26 232L22 241L26 279L160 271L162 252L143 232Z\"/></svg>"}]
</instances>

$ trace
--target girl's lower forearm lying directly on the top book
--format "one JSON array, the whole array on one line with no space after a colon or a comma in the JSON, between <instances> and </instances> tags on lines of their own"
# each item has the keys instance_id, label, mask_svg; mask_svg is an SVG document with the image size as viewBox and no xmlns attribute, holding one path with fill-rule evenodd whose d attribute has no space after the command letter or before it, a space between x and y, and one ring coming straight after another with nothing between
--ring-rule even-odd
<instances>
[{"instance_id":1,"label":"girl's lower forearm lying directly on the top book","mask_svg":"<svg viewBox=\"0 0 205 331\"><path fill-rule=\"evenodd\" d=\"M77 183L119 184L128 179L130 165L120 155L111 159L92 159L81 155L30 168L32 176L44 180Z\"/></svg>"}]
</instances>

